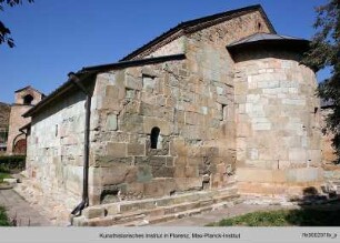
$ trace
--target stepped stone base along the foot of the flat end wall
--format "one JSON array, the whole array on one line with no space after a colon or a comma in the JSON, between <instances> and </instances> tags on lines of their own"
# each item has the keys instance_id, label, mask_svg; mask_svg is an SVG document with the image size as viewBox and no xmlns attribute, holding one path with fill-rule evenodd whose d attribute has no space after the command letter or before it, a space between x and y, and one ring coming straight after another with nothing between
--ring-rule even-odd
<instances>
[{"instance_id":1,"label":"stepped stone base along the foot of the flat end wall","mask_svg":"<svg viewBox=\"0 0 340 243\"><path fill-rule=\"evenodd\" d=\"M73 225L146 225L151 222L169 221L217 205L229 206L238 199L236 185L216 191L190 192L162 199L147 199L133 202L118 202L87 207L82 215L73 219Z\"/></svg>"}]
</instances>

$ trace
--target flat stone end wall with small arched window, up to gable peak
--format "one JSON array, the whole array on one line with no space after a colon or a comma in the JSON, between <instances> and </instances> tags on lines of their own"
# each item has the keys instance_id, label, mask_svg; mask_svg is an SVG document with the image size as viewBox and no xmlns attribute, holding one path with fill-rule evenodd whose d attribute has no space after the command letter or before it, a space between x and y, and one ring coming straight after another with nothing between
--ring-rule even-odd
<instances>
[{"instance_id":1,"label":"flat stone end wall with small arched window, up to gable peak","mask_svg":"<svg viewBox=\"0 0 340 243\"><path fill-rule=\"evenodd\" d=\"M92 204L222 188L231 181L233 62L226 45L258 31L269 30L259 13L250 13L192 34L186 43L189 60L98 75ZM173 54L186 40L151 55ZM150 149L156 126L159 148Z\"/></svg>"}]
</instances>

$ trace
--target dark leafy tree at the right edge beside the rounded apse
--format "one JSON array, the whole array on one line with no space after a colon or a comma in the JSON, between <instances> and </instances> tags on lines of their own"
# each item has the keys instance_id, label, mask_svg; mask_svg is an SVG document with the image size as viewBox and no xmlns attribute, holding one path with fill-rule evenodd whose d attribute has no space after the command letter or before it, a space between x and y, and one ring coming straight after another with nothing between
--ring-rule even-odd
<instances>
[{"instance_id":1,"label":"dark leafy tree at the right edge beside the rounded apse","mask_svg":"<svg viewBox=\"0 0 340 243\"><path fill-rule=\"evenodd\" d=\"M340 1L329 0L316 11L317 32L304 62L314 70L331 70L330 78L319 84L318 95L333 103L332 112L326 120L326 129L334 135L332 145L338 155L337 163L340 163Z\"/></svg>"}]
</instances>

